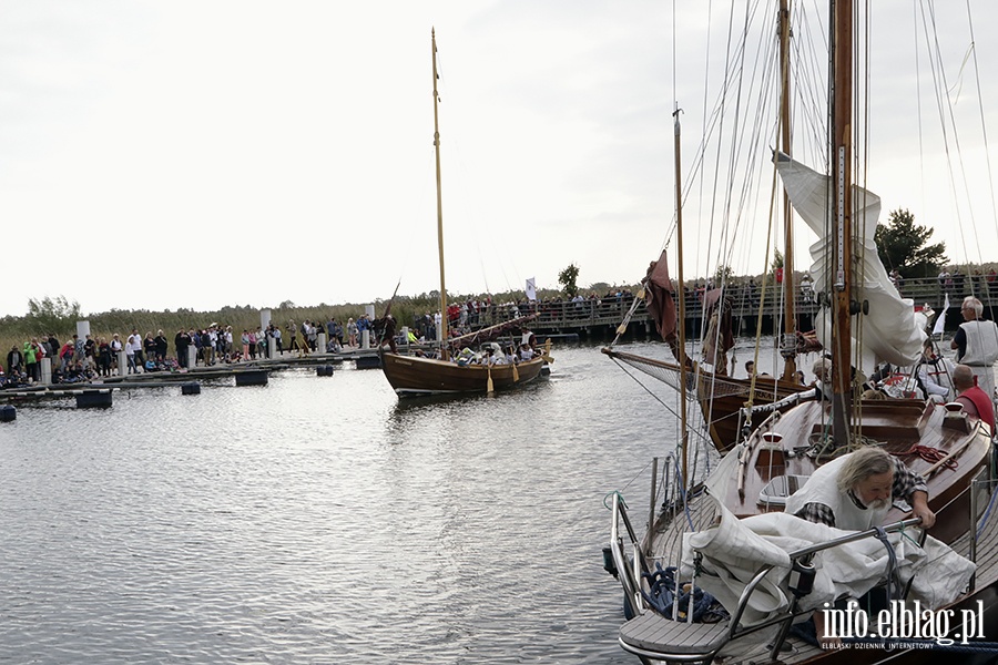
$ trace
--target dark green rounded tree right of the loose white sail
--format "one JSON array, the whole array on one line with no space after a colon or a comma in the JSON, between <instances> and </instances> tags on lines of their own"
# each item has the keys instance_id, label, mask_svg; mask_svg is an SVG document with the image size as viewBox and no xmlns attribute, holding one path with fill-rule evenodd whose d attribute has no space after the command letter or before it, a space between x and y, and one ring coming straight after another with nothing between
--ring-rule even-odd
<instances>
[{"instance_id":1,"label":"dark green rounded tree right of the loose white sail","mask_svg":"<svg viewBox=\"0 0 998 665\"><path fill-rule=\"evenodd\" d=\"M887 224L877 225L877 255L888 270L904 277L935 277L948 259L945 243L926 244L931 235L931 228L918 226L915 215L898 208L888 215Z\"/></svg>"}]
</instances>

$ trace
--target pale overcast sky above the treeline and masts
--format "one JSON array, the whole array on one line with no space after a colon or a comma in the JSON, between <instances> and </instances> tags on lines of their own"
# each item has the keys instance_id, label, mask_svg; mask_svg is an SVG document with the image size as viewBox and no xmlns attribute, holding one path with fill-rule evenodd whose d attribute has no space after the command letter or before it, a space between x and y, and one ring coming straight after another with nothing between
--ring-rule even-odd
<instances>
[{"instance_id":1,"label":"pale overcast sky above the treeline and masts","mask_svg":"<svg viewBox=\"0 0 998 665\"><path fill-rule=\"evenodd\" d=\"M986 160L998 168L986 142L998 137L988 75L998 43L966 58L968 8L977 35L994 32L998 8L953 2L929 17L954 122L969 126L948 132L947 154L919 73L929 59L916 69L916 35L927 41L916 17L934 6L874 4L867 186L885 214L906 207L933 227L950 259L998 260ZM672 112L683 109L685 168L724 64L707 53L746 10L720 0L0 0L0 316L20 316L47 296L89 314L438 289L431 29L448 291L522 289L531 277L557 288L569 264L581 286L633 284L675 213ZM800 11L821 25L813 1ZM766 145L763 134L754 152ZM967 175L951 178L947 163ZM706 274L711 260L763 272L764 227L712 223L716 195L691 192L688 272ZM765 208L765 196L750 205ZM797 252L813 241L798 237ZM726 254L713 259L719 243Z\"/></svg>"}]
</instances>

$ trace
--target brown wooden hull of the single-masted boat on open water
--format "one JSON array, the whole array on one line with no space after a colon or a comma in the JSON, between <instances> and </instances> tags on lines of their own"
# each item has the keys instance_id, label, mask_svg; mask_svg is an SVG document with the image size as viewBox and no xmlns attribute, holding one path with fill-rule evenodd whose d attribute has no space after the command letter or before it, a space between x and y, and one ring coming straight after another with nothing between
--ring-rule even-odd
<instances>
[{"instance_id":1,"label":"brown wooden hull of the single-masted boat on open water","mask_svg":"<svg viewBox=\"0 0 998 665\"><path fill-rule=\"evenodd\" d=\"M510 390L537 379L543 365L542 358L536 358L516 366L493 365L489 368L481 365L469 365L460 367L455 362L418 356L399 356L397 354L381 356L385 377L399 397L487 392L489 377L492 379L495 390ZM516 376L513 376L513 367L516 367Z\"/></svg>"}]
</instances>

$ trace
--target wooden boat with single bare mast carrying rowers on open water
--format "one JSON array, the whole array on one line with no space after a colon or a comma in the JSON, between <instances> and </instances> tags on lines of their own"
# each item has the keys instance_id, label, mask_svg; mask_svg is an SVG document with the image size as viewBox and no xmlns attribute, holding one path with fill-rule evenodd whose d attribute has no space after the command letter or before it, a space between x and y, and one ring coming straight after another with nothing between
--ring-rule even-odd
<instances>
[{"instance_id":1,"label":"wooden boat with single bare mast carrying rowers on open water","mask_svg":"<svg viewBox=\"0 0 998 665\"><path fill-rule=\"evenodd\" d=\"M451 349L460 349L469 338L476 341L488 341L502 335L522 335L522 325L532 317L521 317L487 329L477 330L470 336L450 338L447 330L447 287L444 279L444 203L440 187L440 127L437 94L437 38L431 31L434 63L434 147L437 165L437 244L440 257L440 339L444 340L439 358L420 356L400 356L381 354L381 367L385 377L403 397L462 392L492 392L518 388L534 380L541 375L546 362L552 361L549 350L538 354L529 360L516 364L457 364L450 360ZM519 346L519 345L517 345Z\"/></svg>"}]
</instances>

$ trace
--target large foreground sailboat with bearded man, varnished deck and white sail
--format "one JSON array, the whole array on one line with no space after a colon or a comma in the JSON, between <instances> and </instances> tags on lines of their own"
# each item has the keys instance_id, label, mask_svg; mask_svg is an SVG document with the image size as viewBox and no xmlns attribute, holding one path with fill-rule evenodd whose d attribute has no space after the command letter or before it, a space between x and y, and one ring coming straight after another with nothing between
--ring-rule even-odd
<instances>
[{"instance_id":1,"label":"large foreground sailboat with bearded man, varnished deck and white sail","mask_svg":"<svg viewBox=\"0 0 998 665\"><path fill-rule=\"evenodd\" d=\"M813 255L825 266L815 288L828 364L813 399L773 411L702 484L683 479L666 501L653 489L662 510L644 538L613 495L604 563L624 591L620 645L643 663L998 655L989 400L968 413L858 389L875 362L913 365L921 338L896 325L910 310L869 274L884 268L879 198L852 173L857 16L852 0L831 2L831 174L774 155L794 208L823 238Z\"/></svg>"}]
</instances>

